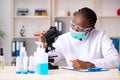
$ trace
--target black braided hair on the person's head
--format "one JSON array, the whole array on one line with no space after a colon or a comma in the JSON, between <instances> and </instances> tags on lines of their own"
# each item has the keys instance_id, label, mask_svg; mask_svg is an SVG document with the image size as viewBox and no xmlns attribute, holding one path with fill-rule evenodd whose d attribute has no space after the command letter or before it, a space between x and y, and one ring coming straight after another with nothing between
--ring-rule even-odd
<instances>
[{"instance_id":1,"label":"black braided hair on the person's head","mask_svg":"<svg viewBox=\"0 0 120 80\"><path fill-rule=\"evenodd\" d=\"M92 9L90 9L88 7L84 7L84 8L79 9L77 12L75 12L74 16L76 14L82 14L86 19L88 19L88 21L90 23L89 24L90 27L95 28L94 26L97 21L97 15Z\"/></svg>"}]
</instances>

